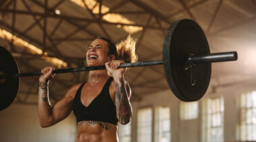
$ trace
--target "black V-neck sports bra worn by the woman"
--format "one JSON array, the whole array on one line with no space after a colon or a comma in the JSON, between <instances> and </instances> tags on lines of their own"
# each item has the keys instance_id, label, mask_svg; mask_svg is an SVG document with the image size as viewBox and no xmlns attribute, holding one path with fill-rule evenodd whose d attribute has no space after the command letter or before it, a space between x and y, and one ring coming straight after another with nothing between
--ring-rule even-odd
<instances>
[{"instance_id":1,"label":"black V-neck sports bra worn by the woman","mask_svg":"<svg viewBox=\"0 0 256 142\"><path fill-rule=\"evenodd\" d=\"M87 107L81 102L81 90L86 82L78 88L73 100L73 113L77 123L79 121L101 121L117 125L116 106L109 94L112 81L112 77L108 78L100 94Z\"/></svg>"}]
</instances>

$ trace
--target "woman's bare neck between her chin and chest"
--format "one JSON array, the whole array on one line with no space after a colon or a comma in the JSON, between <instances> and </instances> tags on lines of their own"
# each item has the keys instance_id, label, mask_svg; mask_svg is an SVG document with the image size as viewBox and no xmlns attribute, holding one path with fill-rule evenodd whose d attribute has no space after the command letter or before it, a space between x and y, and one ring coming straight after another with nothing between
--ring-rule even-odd
<instances>
[{"instance_id":1,"label":"woman's bare neck between her chin and chest","mask_svg":"<svg viewBox=\"0 0 256 142\"><path fill-rule=\"evenodd\" d=\"M93 70L89 72L87 82L105 82L108 78L106 70Z\"/></svg>"}]
</instances>

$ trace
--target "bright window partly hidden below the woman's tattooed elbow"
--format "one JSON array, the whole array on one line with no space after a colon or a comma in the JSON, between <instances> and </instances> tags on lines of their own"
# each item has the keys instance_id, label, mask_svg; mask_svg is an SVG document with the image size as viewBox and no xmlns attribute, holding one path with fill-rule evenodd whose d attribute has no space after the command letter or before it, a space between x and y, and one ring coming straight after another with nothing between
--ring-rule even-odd
<instances>
[{"instance_id":1,"label":"bright window partly hidden below the woman's tattooed elbow","mask_svg":"<svg viewBox=\"0 0 256 142\"><path fill-rule=\"evenodd\" d=\"M121 142L131 142L131 121L127 125L118 124L118 137Z\"/></svg>"}]
</instances>

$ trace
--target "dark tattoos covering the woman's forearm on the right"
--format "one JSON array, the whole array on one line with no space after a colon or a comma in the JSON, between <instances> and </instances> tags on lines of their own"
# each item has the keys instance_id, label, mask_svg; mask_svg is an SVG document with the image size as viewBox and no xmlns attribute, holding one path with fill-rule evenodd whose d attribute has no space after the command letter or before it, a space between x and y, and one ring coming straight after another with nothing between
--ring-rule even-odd
<instances>
[{"instance_id":1,"label":"dark tattoos covering the woman's forearm on the right","mask_svg":"<svg viewBox=\"0 0 256 142\"><path fill-rule=\"evenodd\" d=\"M131 104L127 92L125 90L125 83L123 78L116 82L116 104L117 104L117 115L119 116L119 122L122 124L128 123L131 117Z\"/></svg>"}]
</instances>

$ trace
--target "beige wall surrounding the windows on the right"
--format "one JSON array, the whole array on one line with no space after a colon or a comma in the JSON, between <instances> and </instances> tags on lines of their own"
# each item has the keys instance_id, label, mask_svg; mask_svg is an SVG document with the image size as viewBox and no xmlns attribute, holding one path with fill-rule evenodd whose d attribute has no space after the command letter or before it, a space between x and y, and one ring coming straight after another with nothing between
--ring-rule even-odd
<instances>
[{"instance_id":1,"label":"beige wall surrounding the windows on the right","mask_svg":"<svg viewBox=\"0 0 256 142\"><path fill-rule=\"evenodd\" d=\"M199 118L189 121L179 119L179 100L170 92L164 90L156 94L142 96L139 102L133 102L133 119L131 124L132 141L137 139L137 110L146 106L170 106L171 115L171 141L174 142L198 142L201 141L201 111L202 100L211 97L224 97L224 141L238 141L238 128L240 121L240 96L244 92L256 90L256 79L234 78L229 76L223 80L212 80L206 94L199 100ZM218 84L219 87L214 87ZM212 88L215 88L214 90ZM203 142L203 141L202 141Z\"/></svg>"}]
</instances>

